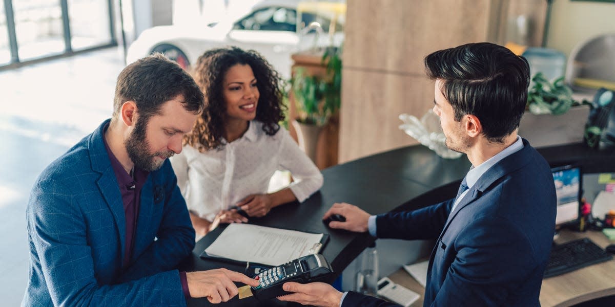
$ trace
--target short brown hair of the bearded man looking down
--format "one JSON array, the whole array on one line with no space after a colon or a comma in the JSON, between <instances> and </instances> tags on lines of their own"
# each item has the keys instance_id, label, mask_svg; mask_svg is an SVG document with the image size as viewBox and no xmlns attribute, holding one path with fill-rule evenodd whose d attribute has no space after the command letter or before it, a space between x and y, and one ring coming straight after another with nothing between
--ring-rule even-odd
<instances>
[{"instance_id":1,"label":"short brown hair of the bearded man looking down","mask_svg":"<svg viewBox=\"0 0 615 307\"><path fill-rule=\"evenodd\" d=\"M134 101L139 117L148 120L180 94L186 111L197 114L203 110L203 93L188 72L160 53L146 56L126 66L117 77L113 118L119 118L122 104Z\"/></svg>"}]
</instances>

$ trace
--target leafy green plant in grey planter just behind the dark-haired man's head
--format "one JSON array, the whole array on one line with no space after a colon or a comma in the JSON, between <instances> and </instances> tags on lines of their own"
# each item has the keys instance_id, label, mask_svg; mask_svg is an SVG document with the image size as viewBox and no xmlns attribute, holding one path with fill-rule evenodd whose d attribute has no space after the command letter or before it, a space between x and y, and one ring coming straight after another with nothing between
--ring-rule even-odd
<instances>
[{"instance_id":1,"label":"leafy green plant in grey planter just behind the dark-haired man's head","mask_svg":"<svg viewBox=\"0 0 615 307\"><path fill-rule=\"evenodd\" d=\"M572 94L564 77L551 83L541 72L534 75L519 135L534 147L581 142L589 106L575 101Z\"/></svg>"}]
</instances>

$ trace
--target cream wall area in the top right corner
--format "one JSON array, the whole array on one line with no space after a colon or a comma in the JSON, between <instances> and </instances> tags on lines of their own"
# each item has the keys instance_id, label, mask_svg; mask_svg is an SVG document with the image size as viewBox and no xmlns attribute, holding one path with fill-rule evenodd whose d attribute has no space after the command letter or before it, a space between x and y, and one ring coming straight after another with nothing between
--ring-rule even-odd
<instances>
[{"instance_id":1,"label":"cream wall area in the top right corner","mask_svg":"<svg viewBox=\"0 0 615 307\"><path fill-rule=\"evenodd\" d=\"M554 0L547 47L570 55L577 44L615 33L615 3Z\"/></svg>"}]
</instances>

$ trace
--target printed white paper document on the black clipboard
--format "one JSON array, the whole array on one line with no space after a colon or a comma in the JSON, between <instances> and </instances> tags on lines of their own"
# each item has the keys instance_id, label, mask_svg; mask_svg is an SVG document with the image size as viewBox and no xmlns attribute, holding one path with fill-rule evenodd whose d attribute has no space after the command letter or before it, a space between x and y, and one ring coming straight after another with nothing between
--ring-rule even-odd
<instances>
[{"instance_id":1,"label":"printed white paper document on the black clipboard","mask_svg":"<svg viewBox=\"0 0 615 307\"><path fill-rule=\"evenodd\" d=\"M210 257L277 266L319 252L322 233L231 223L205 249Z\"/></svg>"}]
</instances>

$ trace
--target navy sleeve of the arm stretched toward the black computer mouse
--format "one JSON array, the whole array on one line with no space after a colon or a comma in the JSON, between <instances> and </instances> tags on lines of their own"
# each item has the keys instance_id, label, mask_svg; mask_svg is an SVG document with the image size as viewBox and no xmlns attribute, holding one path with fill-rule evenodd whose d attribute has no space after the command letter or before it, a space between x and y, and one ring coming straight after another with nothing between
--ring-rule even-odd
<instances>
[{"instance_id":1,"label":"navy sleeve of the arm stretched toward the black computer mouse","mask_svg":"<svg viewBox=\"0 0 615 307\"><path fill-rule=\"evenodd\" d=\"M376 217L376 236L381 239L435 239L442 232L454 198L415 211L390 212Z\"/></svg>"}]
</instances>

